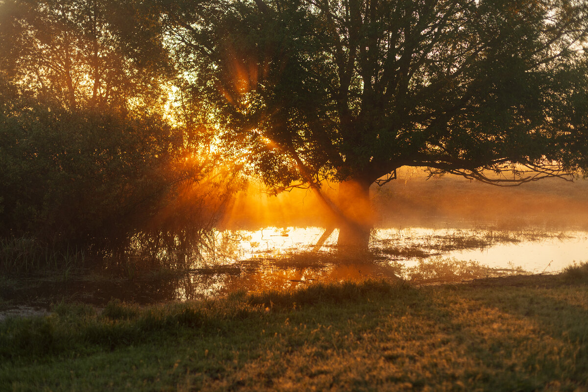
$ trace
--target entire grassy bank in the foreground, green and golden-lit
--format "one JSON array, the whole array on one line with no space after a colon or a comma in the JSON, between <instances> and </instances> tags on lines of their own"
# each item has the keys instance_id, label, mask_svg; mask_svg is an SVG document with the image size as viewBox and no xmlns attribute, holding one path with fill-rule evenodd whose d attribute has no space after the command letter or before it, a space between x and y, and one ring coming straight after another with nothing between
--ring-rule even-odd
<instances>
[{"instance_id":1,"label":"entire grassy bank in the foreground, green and golden-lit","mask_svg":"<svg viewBox=\"0 0 588 392\"><path fill-rule=\"evenodd\" d=\"M0 390L587 390L588 266L0 324Z\"/></svg>"}]
</instances>

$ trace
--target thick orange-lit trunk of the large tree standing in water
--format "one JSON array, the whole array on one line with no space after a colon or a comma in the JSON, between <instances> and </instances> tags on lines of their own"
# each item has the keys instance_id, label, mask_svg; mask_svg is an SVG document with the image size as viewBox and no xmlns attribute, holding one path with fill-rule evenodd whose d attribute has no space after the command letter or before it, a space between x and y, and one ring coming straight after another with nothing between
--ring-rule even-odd
<instances>
[{"instance_id":1,"label":"thick orange-lit trunk of the large tree standing in water","mask_svg":"<svg viewBox=\"0 0 588 392\"><path fill-rule=\"evenodd\" d=\"M339 183L339 209L343 214L337 240L340 249L368 249L370 230L373 227L369 186L368 182L362 180Z\"/></svg>"}]
</instances>

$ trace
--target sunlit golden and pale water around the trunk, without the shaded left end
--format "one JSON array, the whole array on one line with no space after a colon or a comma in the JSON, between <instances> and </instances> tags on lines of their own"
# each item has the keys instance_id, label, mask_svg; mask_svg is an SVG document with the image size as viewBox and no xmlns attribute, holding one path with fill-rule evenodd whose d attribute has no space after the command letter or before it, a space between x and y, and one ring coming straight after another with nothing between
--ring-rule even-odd
<instances>
[{"instance_id":1,"label":"sunlit golden and pale water around the trunk, without the shaded left end","mask_svg":"<svg viewBox=\"0 0 588 392\"><path fill-rule=\"evenodd\" d=\"M227 257L220 263L203 260L195 273L184 278L176 296L191 299L366 278L459 282L554 273L588 260L586 232L388 228L373 234L368 253L342 254L336 252L335 230L321 250L313 252L323 232L318 227L267 227L219 233ZM227 266L234 269L228 272Z\"/></svg>"}]
</instances>

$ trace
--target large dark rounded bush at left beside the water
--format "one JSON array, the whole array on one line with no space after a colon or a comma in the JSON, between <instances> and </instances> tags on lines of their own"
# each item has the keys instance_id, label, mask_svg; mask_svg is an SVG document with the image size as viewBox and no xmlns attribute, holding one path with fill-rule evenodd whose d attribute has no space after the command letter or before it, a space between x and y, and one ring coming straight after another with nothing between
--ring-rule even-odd
<instances>
[{"instance_id":1,"label":"large dark rounded bush at left beside the water","mask_svg":"<svg viewBox=\"0 0 588 392\"><path fill-rule=\"evenodd\" d=\"M0 109L4 272L78 266L88 254L177 263L165 249L206 236L228 195L198 185L211 161L193 159L161 116L25 100Z\"/></svg>"}]
</instances>

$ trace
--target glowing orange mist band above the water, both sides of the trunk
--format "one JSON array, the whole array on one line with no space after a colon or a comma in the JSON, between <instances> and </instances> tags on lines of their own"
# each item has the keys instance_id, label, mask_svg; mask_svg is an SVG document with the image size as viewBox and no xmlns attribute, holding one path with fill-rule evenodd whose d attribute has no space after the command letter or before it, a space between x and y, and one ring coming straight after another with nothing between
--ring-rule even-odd
<instances>
[{"instance_id":1,"label":"glowing orange mist band above the water, both sides of the trunk","mask_svg":"<svg viewBox=\"0 0 588 392\"><path fill-rule=\"evenodd\" d=\"M263 227L326 227L332 223L318 198L308 189L277 196L252 183L240 192L220 222L220 229ZM321 192L338 200L337 185ZM403 167L397 179L370 189L375 225L432 229L588 230L588 180L544 179L516 187L498 187L446 175L431 177Z\"/></svg>"}]
</instances>

